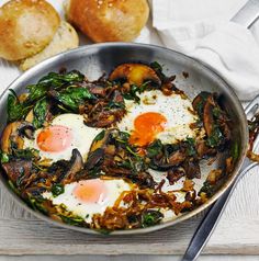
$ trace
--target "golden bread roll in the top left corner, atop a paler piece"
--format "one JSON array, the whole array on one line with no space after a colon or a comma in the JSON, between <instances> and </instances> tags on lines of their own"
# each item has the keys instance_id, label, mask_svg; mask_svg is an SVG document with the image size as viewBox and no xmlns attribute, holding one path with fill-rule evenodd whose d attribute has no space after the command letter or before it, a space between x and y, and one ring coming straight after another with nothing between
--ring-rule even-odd
<instances>
[{"instance_id":1,"label":"golden bread roll in the top left corner, atop a paler piece","mask_svg":"<svg viewBox=\"0 0 259 261\"><path fill-rule=\"evenodd\" d=\"M60 23L44 0L11 0L0 8L0 57L20 60L41 52Z\"/></svg>"}]
</instances>

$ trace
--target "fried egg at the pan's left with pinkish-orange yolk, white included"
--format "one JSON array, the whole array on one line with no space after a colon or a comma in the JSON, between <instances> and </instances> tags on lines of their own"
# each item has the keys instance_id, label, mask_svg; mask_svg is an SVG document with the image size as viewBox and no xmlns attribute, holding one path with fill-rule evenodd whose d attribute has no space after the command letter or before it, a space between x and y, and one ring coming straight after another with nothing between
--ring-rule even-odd
<instances>
[{"instance_id":1,"label":"fried egg at the pan's left with pinkish-orange yolk, white included","mask_svg":"<svg viewBox=\"0 0 259 261\"><path fill-rule=\"evenodd\" d=\"M50 159L53 162L69 160L72 149L77 148L86 159L92 140L101 130L88 127L82 115L61 114L49 126L36 129L34 139L24 138L23 148L37 149L41 159Z\"/></svg>"}]
</instances>

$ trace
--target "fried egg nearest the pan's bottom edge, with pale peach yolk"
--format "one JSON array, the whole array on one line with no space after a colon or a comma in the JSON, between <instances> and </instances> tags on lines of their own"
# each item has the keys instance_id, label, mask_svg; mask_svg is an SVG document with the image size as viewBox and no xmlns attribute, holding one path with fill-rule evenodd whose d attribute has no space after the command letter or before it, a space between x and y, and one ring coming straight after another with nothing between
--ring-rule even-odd
<instances>
[{"instance_id":1,"label":"fried egg nearest the pan's bottom edge, with pale peach yolk","mask_svg":"<svg viewBox=\"0 0 259 261\"><path fill-rule=\"evenodd\" d=\"M130 190L131 185L122 179L92 179L66 184L64 193L56 197L50 192L43 193L43 197L54 205L63 204L74 215L91 223L94 214L103 214L108 206L114 205L123 191Z\"/></svg>"}]
</instances>

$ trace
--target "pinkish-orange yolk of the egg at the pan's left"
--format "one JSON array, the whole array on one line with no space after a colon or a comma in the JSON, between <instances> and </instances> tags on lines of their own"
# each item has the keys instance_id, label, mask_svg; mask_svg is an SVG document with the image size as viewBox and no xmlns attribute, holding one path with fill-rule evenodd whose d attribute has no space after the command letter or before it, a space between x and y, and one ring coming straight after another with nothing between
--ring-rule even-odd
<instances>
[{"instance_id":1,"label":"pinkish-orange yolk of the egg at the pan's left","mask_svg":"<svg viewBox=\"0 0 259 261\"><path fill-rule=\"evenodd\" d=\"M60 152L71 146L72 132L66 126L54 125L37 135L37 146L47 152Z\"/></svg>"}]
</instances>

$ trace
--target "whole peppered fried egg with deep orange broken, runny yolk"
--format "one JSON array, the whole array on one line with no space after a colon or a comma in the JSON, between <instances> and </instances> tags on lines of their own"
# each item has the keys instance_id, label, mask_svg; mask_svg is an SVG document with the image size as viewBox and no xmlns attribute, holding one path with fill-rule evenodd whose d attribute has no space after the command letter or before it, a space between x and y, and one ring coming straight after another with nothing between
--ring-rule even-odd
<instances>
[{"instance_id":1,"label":"whole peppered fried egg with deep orange broken, runny yolk","mask_svg":"<svg viewBox=\"0 0 259 261\"><path fill-rule=\"evenodd\" d=\"M117 124L120 130L131 134L131 144L146 146L155 139L173 144L198 135L191 128L198 115L188 98L177 93L164 95L159 90L146 91L138 97L139 103L125 101L127 114Z\"/></svg>"}]
</instances>

